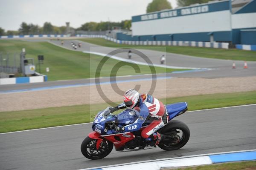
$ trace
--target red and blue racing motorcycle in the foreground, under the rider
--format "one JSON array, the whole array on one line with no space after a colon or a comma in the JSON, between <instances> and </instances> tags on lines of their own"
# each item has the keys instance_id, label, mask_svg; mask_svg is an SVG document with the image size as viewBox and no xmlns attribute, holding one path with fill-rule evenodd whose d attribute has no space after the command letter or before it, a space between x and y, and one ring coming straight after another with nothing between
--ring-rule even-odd
<instances>
[{"instance_id":1,"label":"red and blue racing motorcycle in the foreground, under the rider","mask_svg":"<svg viewBox=\"0 0 256 170\"><path fill-rule=\"evenodd\" d=\"M187 103L168 104L166 110L169 117L168 124L159 130L154 130L163 135L157 146L163 150L178 150L188 142L190 131L186 124L172 119L186 112ZM116 151L122 152L155 148L150 147L150 141L146 141L140 136L141 131L154 119L152 117L146 118L140 130L116 133L116 126L132 124L137 118L140 118L140 113L136 109L125 109L118 115L110 113L109 107L100 111L93 121L92 129L94 132L89 133L81 144L81 153L86 158L95 160L108 156L113 145Z\"/></svg>"}]
</instances>

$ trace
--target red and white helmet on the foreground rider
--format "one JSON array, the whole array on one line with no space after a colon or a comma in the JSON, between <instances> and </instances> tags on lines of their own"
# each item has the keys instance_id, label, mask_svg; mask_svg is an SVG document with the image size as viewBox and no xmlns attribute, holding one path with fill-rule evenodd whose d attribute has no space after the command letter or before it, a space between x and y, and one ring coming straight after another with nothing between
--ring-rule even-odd
<instances>
[{"instance_id":1,"label":"red and white helmet on the foreground rider","mask_svg":"<svg viewBox=\"0 0 256 170\"><path fill-rule=\"evenodd\" d=\"M129 89L123 95L125 106L129 109L133 109L140 99L140 94L135 89Z\"/></svg>"}]
</instances>

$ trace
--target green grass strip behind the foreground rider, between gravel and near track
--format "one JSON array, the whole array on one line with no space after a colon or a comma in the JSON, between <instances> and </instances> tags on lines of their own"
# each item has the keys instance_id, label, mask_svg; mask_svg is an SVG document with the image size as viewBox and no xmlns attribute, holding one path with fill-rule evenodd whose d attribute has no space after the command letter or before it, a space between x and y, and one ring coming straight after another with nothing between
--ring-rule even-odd
<instances>
[{"instance_id":1,"label":"green grass strip behind the foreground rider, between gravel and near track","mask_svg":"<svg viewBox=\"0 0 256 170\"><path fill-rule=\"evenodd\" d=\"M256 91L166 98L161 101L166 104L186 101L189 110L210 109L256 104ZM93 115L107 106L92 104L0 112L0 133L90 122Z\"/></svg>"}]
</instances>

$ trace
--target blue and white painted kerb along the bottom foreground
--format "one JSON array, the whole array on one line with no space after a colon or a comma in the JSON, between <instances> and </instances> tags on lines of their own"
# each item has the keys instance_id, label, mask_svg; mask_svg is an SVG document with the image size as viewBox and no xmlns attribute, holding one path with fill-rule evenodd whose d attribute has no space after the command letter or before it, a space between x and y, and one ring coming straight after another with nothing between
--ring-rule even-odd
<instances>
[{"instance_id":1,"label":"blue and white painted kerb along the bottom foreground","mask_svg":"<svg viewBox=\"0 0 256 170\"><path fill-rule=\"evenodd\" d=\"M180 158L163 158L150 161L131 162L127 164L110 165L105 167L87 168L82 170L160 170L163 168L187 167L224 163L231 161L256 160L256 150L236 151L229 153L212 153L198 156L183 156Z\"/></svg>"}]
</instances>

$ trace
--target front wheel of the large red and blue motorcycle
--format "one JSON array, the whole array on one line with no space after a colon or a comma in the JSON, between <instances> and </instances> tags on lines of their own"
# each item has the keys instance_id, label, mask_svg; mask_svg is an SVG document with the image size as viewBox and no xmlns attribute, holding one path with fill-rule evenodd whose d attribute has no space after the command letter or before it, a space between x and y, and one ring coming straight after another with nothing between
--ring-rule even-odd
<instances>
[{"instance_id":1,"label":"front wheel of the large red and blue motorcycle","mask_svg":"<svg viewBox=\"0 0 256 170\"><path fill-rule=\"evenodd\" d=\"M97 139L89 138L88 136L84 139L81 144L81 152L88 159L102 159L111 153L113 149L113 143L103 139L100 144L99 150L96 148Z\"/></svg>"}]
</instances>

